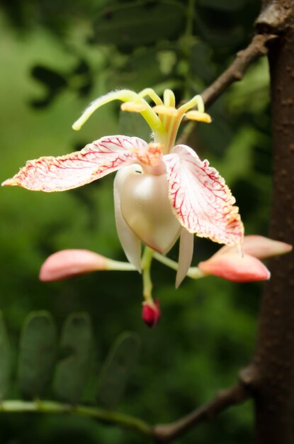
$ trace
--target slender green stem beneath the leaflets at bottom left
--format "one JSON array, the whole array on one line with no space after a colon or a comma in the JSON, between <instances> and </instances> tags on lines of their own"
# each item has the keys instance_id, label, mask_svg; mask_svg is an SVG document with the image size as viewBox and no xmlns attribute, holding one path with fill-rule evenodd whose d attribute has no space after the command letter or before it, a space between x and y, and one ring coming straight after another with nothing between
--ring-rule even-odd
<instances>
[{"instance_id":1,"label":"slender green stem beneath the leaflets at bottom left","mask_svg":"<svg viewBox=\"0 0 294 444\"><path fill-rule=\"evenodd\" d=\"M72 414L78 416L88 416L98 421L112 423L123 428L130 428L142 435L152 436L152 428L145 421L134 416L121 414L118 411L107 411L96 407L71 406L55 401L20 401L7 400L1 401L0 413L46 413L46 414Z\"/></svg>"}]
</instances>

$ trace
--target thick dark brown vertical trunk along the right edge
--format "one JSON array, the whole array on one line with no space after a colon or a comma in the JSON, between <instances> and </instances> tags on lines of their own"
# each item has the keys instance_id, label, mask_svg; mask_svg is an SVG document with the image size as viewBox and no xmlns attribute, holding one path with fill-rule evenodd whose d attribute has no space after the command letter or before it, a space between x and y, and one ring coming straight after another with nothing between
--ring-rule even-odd
<instances>
[{"instance_id":1,"label":"thick dark brown vertical trunk along the right edge","mask_svg":"<svg viewBox=\"0 0 294 444\"><path fill-rule=\"evenodd\" d=\"M273 203L270 237L294 244L294 13L293 1L264 1L257 26L279 33L269 47L273 117ZM285 19L280 26L281 18ZM292 443L294 252L269 265L251 374L256 443Z\"/></svg>"}]
</instances>

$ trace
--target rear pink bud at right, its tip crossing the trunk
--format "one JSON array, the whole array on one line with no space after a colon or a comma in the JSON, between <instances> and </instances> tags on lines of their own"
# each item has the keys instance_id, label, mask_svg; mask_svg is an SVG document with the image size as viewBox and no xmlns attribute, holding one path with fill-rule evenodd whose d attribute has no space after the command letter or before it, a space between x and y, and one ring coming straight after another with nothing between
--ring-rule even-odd
<instances>
[{"instance_id":1,"label":"rear pink bud at right, its tip crossing the trunk","mask_svg":"<svg viewBox=\"0 0 294 444\"><path fill-rule=\"evenodd\" d=\"M218 250L215 255L223 255L230 252L232 249L237 251L234 247L224 246ZM259 235L249 235L244 237L244 243L242 250L247 255L257 257L258 259L266 259L267 257L284 255L293 249L292 245L280 242L279 240L273 240L265 238Z\"/></svg>"}]
</instances>

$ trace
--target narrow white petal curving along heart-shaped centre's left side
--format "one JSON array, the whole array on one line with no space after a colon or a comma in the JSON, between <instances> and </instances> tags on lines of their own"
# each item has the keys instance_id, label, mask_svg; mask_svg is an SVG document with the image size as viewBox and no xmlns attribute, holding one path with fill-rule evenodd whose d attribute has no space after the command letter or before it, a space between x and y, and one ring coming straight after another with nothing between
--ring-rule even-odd
<instances>
[{"instance_id":1,"label":"narrow white petal curving along heart-shaped centre's left side","mask_svg":"<svg viewBox=\"0 0 294 444\"><path fill-rule=\"evenodd\" d=\"M122 168L117 172L113 184L114 195L114 211L115 211L115 223L116 230L118 232L118 238L125 251L125 255L128 261L137 268L138 272L141 272L141 243L135 233L130 229L125 222L120 209L120 194L125 179L137 170L138 165L129 165Z\"/></svg>"}]
</instances>

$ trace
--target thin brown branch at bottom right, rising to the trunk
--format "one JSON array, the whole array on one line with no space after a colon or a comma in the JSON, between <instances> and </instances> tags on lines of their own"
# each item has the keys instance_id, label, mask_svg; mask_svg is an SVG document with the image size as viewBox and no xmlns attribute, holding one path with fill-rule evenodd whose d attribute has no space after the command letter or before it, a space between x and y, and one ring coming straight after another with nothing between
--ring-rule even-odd
<instances>
[{"instance_id":1,"label":"thin brown branch at bottom right, rising to the trunk","mask_svg":"<svg viewBox=\"0 0 294 444\"><path fill-rule=\"evenodd\" d=\"M154 439L157 443L170 443L179 435L196 426L196 424L213 419L221 411L224 411L232 405L241 404L246 399L249 399L250 396L251 392L249 387L242 384L242 382L238 382L233 387L230 387L230 389L219 392L208 404L192 411L187 416L183 416L183 418L178 421L154 426Z\"/></svg>"}]
</instances>

